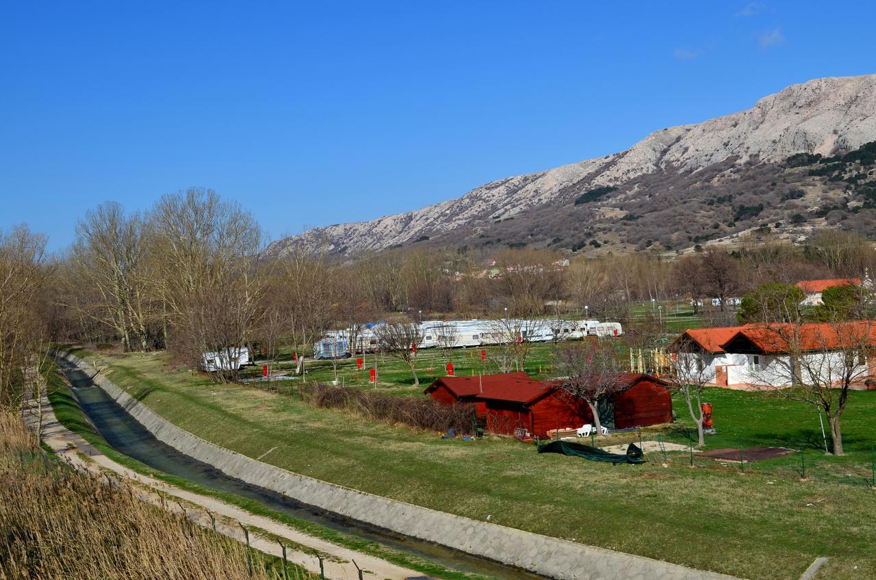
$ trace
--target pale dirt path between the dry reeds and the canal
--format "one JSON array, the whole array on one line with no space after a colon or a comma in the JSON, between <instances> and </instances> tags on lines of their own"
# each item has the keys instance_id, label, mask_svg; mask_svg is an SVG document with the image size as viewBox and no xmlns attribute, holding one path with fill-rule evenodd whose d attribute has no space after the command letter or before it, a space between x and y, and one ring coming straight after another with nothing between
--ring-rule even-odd
<instances>
[{"instance_id":1,"label":"pale dirt path between the dry reeds and the canal","mask_svg":"<svg viewBox=\"0 0 876 580\"><path fill-rule=\"evenodd\" d=\"M33 407L33 406L32 406ZM34 414L25 409L25 421L35 425ZM364 578L371 580L405 580L412 576L423 576L420 572L397 566L378 557L363 554L350 548L343 548L329 541L304 534L264 516L255 515L225 502L194 492L180 489L174 485L147 477L120 465L88 444L79 435L60 424L46 398L43 400L43 441L53 451L81 470L95 473L115 473L118 478L131 484L138 497L164 509L181 513L203 527L212 527L215 517L215 530L237 541L245 541L244 530L240 527L258 527L268 534L277 536L286 543L286 557L305 569L320 571L318 555L323 559L325 575L332 580L356 580L358 570L355 560L364 570ZM179 503L177 503L179 502ZM250 545L265 554L280 556L279 542L258 531L250 532Z\"/></svg>"}]
</instances>

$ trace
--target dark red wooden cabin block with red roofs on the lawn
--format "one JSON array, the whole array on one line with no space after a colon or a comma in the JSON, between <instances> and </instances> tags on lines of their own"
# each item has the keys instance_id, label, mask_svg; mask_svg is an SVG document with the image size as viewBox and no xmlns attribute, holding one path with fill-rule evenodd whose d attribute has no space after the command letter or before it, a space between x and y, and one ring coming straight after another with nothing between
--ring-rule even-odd
<instances>
[{"instance_id":1,"label":"dark red wooden cabin block with red roofs on the lawn","mask_svg":"<svg viewBox=\"0 0 876 580\"><path fill-rule=\"evenodd\" d=\"M600 405L609 428L644 427L672 421L668 384L644 374L625 375L627 386ZM548 429L578 428L593 422L590 407L560 388L561 380L539 381L525 372L444 377L426 389L435 400L475 404L478 421L491 433L514 435L525 429L545 436Z\"/></svg>"}]
</instances>

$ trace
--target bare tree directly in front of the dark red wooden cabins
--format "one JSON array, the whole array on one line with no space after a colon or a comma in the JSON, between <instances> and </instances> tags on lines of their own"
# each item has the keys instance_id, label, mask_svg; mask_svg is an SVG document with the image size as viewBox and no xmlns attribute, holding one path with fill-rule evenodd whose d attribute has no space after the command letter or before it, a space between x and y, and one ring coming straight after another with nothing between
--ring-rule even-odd
<instances>
[{"instance_id":1,"label":"bare tree directly in front of the dark red wooden cabins","mask_svg":"<svg viewBox=\"0 0 876 580\"><path fill-rule=\"evenodd\" d=\"M564 343L555 357L563 378L560 388L587 402L597 434L601 433L599 401L619 393L628 384L613 347L594 341Z\"/></svg>"}]
</instances>

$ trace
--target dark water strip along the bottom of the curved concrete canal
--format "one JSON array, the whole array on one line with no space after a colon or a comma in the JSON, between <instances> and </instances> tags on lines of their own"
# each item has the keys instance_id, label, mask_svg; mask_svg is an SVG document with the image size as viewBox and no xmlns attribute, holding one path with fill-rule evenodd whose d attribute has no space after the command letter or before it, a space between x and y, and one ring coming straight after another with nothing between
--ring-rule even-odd
<instances>
[{"instance_id":1,"label":"dark water strip along the bottom of the curved concrete canal","mask_svg":"<svg viewBox=\"0 0 876 580\"><path fill-rule=\"evenodd\" d=\"M230 492L245 499L256 500L274 512L374 541L448 569L509 580L532 580L544 577L431 542L393 534L363 522L344 518L336 513L300 504L277 492L229 477L223 471L160 442L99 386L94 385L84 371L63 362L61 365L74 387L74 395L79 400L82 412L94 424L109 446L145 463L154 470L182 477L220 492Z\"/></svg>"}]
</instances>

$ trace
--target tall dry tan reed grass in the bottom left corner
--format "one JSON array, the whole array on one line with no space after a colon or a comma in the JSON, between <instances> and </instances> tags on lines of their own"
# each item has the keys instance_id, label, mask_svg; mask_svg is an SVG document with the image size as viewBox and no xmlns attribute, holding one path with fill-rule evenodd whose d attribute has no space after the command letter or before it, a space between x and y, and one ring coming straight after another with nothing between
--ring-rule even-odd
<instances>
[{"instance_id":1,"label":"tall dry tan reed grass in the bottom left corner","mask_svg":"<svg viewBox=\"0 0 876 580\"><path fill-rule=\"evenodd\" d=\"M0 411L0 579L282 577L260 556L250 570L242 544L46 456L18 415Z\"/></svg>"}]
</instances>

